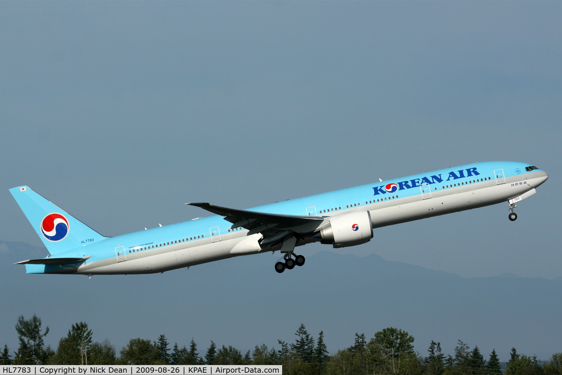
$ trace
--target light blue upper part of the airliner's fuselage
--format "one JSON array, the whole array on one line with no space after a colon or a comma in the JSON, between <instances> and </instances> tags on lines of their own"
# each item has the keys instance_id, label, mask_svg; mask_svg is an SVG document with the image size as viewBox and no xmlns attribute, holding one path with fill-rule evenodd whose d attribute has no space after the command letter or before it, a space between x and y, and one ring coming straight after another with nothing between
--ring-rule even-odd
<instances>
[{"instance_id":1,"label":"light blue upper part of the airliner's fuselage","mask_svg":"<svg viewBox=\"0 0 562 375\"><path fill-rule=\"evenodd\" d=\"M333 212L345 209L350 204L368 205L366 209L373 210L377 209L377 199L384 200L384 198L388 196L397 196L398 198L396 199L401 199L422 194L419 184L423 182L427 182L431 186L432 191L436 188L437 190L442 190L442 186L448 185L449 183L453 184L457 181L468 180L468 177L470 177L471 183L472 180L481 180L484 177L486 177L486 179L488 179L488 177L493 179L494 171L498 170L498 168L503 170L505 177L524 175L525 173L529 173L525 171L525 167L528 166L531 166L531 164L505 161L472 163L382 182L374 182L372 184L349 187L347 189L330 191L328 193L305 196L303 198L285 200L284 202L253 207L248 209L248 211L307 216L309 214L307 213L307 207L314 207L316 215L327 216L328 211L330 214L334 214ZM471 176L468 176L469 174ZM384 186L392 183L397 184L398 189L393 193L383 192ZM474 188L477 189L478 182L475 182L474 185ZM378 189L379 187L381 189ZM367 203L365 204L365 202ZM326 210L325 213L324 210ZM144 249L144 246L166 244L169 241L189 239L197 236L207 238L210 237L210 228L215 226L219 227L221 234L225 234L230 230L232 223L226 221L221 216L214 215L109 237L76 249L53 254L52 257L83 257L91 255L88 262L96 262L97 260L115 257L115 248L117 246L124 246L125 251L129 251L132 248L138 248L138 246L142 246ZM44 267L42 265L31 264L29 264L28 267L29 266Z\"/></svg>"}]
</instances>

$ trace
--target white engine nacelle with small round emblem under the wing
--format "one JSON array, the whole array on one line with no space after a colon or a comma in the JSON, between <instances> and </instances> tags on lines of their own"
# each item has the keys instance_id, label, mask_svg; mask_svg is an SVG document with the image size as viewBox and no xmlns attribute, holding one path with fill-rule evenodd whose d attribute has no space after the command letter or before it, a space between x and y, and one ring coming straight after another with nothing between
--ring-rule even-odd
<instances>
[{"instance_id":1,"label":"white engine nacelle with small round emblem under the wing","mask_svg":"<svg viewBox=\"0 0 562 375\"><path fill-rule=\"evenodd\" d=\"M369 211L346 212L333 216L320 230L324 241L332 241L334 248L345 248L369 242L373 238L373 224Z\"/></svg>"}]
</instances>

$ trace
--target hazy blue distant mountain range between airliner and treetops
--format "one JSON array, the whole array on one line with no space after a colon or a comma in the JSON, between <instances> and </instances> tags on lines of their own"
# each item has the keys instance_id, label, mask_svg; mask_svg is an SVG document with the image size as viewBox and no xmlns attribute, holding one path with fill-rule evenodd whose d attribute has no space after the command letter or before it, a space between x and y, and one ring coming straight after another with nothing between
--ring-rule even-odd
<instances>
[{"instance_id":1,"label":"hazy blue distant mountain range between airliner and treetops","mask_svg":"<svg viewBox=\"0 0 562 375\"><path fill-rule=\"evenodd\" d=\"M306 256L306 250L302 251ZM302 322L328 350L350 346L355 332L373 337L393 326L415 337L420 354L430 340L452 353L457 339L495 348L506 360L519 353L548 358L562 351L562 282L544 278L462 278L378 255L359 258L330 251L307 257L282 274L279 253L249 255L155 275L26 275L19 260L47 255L24 243L0 242L0 345L13 348L17 316L37 313L55 345L70 324L86 321L94 340L117 350L130 338L166 333L184 345L194 337L204 351L214 340L241 350L293 341Z\"/></svg>"}]
</instances>

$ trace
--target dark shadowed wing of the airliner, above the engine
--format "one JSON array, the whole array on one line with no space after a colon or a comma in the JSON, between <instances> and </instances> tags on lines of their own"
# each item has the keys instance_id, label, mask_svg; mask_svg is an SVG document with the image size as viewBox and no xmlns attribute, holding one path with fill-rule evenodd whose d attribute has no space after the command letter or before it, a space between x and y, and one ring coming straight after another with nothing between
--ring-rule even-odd
<instances>
[{"instance_id":1,"label":"dark shadowed wing of the airliner, above the engine","mask_svg":"<svg viewBox=\"0 0 562 375\"><path fill-rule=\"evenodd\" d=\"M246 211L243 209L234 209L212 205L210 203L185 203L206 209L209 212L224 216L225 220L233 223L231 228L243 227L248 230L255 229L256 232L263 232L272 230L276 231L289 228L302 227L315 228L323 220L320 216L297 216L297 215L283 215L278 213ZM257 230L262 228L262 230ZM311 229L313 230L313 229Z\"/></svg>"}]
</instances>

